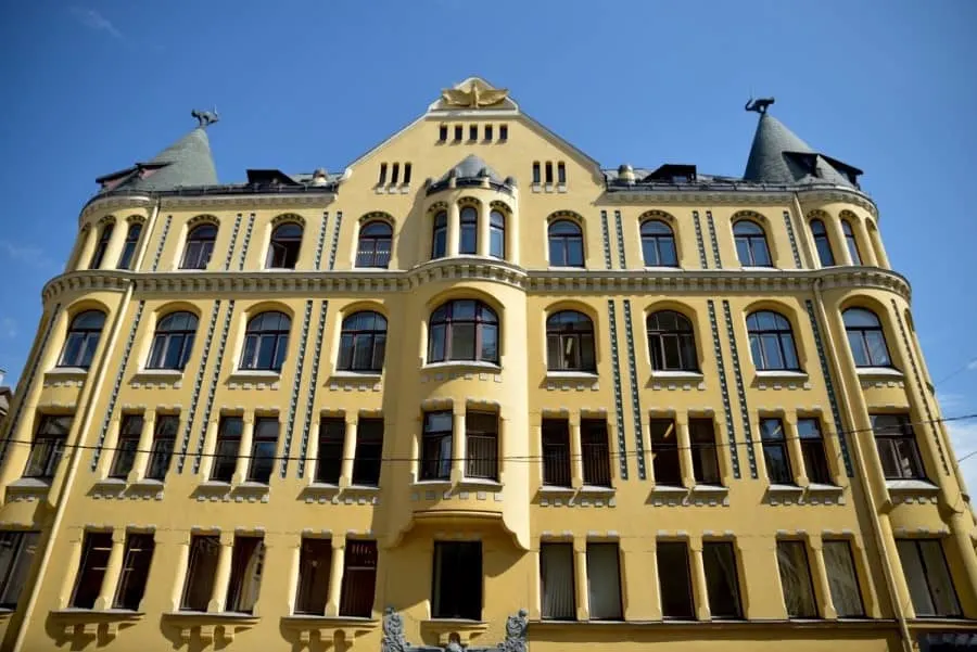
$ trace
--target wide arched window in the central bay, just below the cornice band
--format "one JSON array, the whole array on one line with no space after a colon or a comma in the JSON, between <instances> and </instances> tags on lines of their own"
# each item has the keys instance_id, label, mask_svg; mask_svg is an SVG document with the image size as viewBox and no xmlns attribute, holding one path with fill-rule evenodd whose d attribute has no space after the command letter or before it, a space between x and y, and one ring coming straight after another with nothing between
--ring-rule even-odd
<instances>
[{"instance_id":1,"label":"wide arched window in the central bay, just below the cornice band","mask_svg":"<svg viewBox=\"0 0 977 652\"><path fill-rule=\"evenodd\" d=\"M428 362L478 360L498 363L498 317L474 299L443 304L431 314Z\"/></svg>"}]
</instances>

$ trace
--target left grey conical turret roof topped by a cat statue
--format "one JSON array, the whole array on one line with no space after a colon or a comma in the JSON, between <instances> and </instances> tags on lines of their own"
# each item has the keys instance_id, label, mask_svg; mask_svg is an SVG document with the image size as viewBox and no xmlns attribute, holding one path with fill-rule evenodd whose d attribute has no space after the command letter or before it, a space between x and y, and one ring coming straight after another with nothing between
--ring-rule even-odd
<instances>
[{"instance_id":1,"label":"left grey conical turret roof topped by a cat statue","mask_svg":"<svg viewBox=\"0 0 977 652\"><path fill-rule=\"evenodd\" d=\"M211 155L206 127L217 122L217 114L193 112L200 125L145 163L96 179L102 192L141 190L161 192L194 186L216 186L217 170Z\"/></svg>"}]
</instances>

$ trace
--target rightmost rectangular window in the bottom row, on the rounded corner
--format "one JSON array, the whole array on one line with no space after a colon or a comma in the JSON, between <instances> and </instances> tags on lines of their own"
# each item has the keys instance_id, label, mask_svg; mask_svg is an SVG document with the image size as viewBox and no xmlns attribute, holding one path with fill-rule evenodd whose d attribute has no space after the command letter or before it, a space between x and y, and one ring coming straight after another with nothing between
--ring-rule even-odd
<instances>
[{"instance_id":1,"label":"rightmost rectangular window in the bottom row, on the rounded corner","mask_svg":"<svg viewBox=\"0 0 977 652\"><path fill-rule=\"evenodd\" d=\"M956 590L939 539L897 539L896 548L919 617L960 616Z\"/></svg>"}]
</instances>

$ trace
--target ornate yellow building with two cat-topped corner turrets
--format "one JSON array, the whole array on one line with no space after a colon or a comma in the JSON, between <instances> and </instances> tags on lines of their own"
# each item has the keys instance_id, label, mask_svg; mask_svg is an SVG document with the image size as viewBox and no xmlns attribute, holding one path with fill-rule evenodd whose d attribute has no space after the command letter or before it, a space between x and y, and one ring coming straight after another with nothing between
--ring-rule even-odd
<instances>
[{"instance_id":1,"label":"ornate yellow building with two cat-topped corner turrets","mask_svg":"<svg viewBox=\"0 0 977 652\"><path fill-rule=\"evenodd\" d=\"M3 433L2 650L973 645L909 283L770 103L743 178L478 78L342 174L220 184L195 112L100 178Z\"/></svg>"}]
</instances>

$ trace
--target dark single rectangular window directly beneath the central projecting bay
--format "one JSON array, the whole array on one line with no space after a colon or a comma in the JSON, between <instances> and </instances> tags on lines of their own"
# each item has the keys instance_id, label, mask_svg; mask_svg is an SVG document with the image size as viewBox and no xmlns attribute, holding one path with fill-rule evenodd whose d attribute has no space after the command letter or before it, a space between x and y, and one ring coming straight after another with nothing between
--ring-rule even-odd
<instances>
[{"instance_id":1,"label":"dark single rectangular window directly beneath the central projecting bay","mask_svg":"<svg viewBox=\"0 0 977 652\"><path fill-rule=\"evenodd\" d=\"M431 615L482 619L481 541L435 541Z\"/></svg>"}]
</instances>

